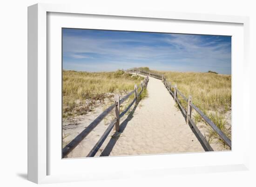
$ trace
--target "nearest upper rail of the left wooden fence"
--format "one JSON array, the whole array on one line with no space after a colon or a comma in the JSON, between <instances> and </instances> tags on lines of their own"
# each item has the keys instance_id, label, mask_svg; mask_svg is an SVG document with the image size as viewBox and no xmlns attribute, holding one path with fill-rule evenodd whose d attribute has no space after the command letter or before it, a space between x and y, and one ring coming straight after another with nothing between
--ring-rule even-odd
<instances>
[{"instance_id":1,"label":"nearest upper rail of the left wooden fence","mask_svg":"<svg viewBox=\"0 0 256 187\"><path fill-rule=\"evenodd\" d=\"M77 135L71 142L69 142L65 148L62 149L62 157L66 156L71 150L73 150L100 122L108 115L108 113L115 108L115 103L108 107L107 110L101 113L89 126L84 129L79 135Z\"/></svg>"}]
</instances>

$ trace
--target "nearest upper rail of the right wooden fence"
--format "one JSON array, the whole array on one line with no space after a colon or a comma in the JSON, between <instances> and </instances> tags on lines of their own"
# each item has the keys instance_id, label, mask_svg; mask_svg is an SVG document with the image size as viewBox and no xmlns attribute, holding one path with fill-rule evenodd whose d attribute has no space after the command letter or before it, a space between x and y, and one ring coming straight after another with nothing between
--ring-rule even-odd
<instances>
[{"instance_id":1,"label":"nearest upper rail of the right wooden fence","mask_svg":"<svg viewBox=\"0 0 256 187\"><path fill-rule=\"evenodd\" d=\"M194 104L190 103L190 106L192 106L195 111L197 111L202 118L204 119L204 121L206 123L208 123L212 129L214 129L216 131L216 133L220 136L220 138L229 146L229 148L231 148L231 140L229 140L229 138L221 131L221 129L219 129L216 124L214 124L201 110L199 110Z\"/></svg>"}]
</instances>

